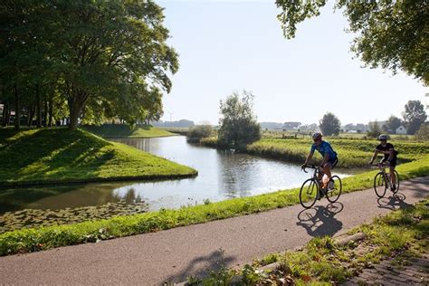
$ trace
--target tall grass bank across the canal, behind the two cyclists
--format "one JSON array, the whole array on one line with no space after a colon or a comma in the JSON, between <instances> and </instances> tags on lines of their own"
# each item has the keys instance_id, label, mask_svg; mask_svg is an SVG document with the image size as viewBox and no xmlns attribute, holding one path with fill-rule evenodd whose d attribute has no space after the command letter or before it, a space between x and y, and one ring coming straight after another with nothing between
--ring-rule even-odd
<instances>
[{"instance_id":1,"label":"tall grass bank across the canal, behind the two cyclists","mask_svg":"<svg viewBox=\"0 0 429 286\"><path fill-rule=\"evenodd\" d=\"M344 138L327 138L327 141L338 153L338 167L367 167L378 142L377 140L359 140ZM411 162L429 154L429 143L391 141L399 151L398 163ZM205 138L202 144L216 148L215 138ZM292 163L303 163L310 152L310 139L300 138L262 138L247 146L246 153L280 159ZM380 157L381 158L381 157ZM313 163L321 160L315 152Z\"/></svg>"}]
</instances>

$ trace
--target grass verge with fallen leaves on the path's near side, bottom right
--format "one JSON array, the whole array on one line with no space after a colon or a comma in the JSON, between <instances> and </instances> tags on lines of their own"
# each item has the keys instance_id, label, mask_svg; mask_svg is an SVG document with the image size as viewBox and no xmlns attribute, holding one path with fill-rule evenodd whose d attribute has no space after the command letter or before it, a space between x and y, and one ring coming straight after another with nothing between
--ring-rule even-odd
<instances>
[{"instance_id":1,"label":"grass verge with fallen leaves on the path's near side, bottom right","mask_svg":"<svg viewBox=\"0 0 429 286\"><path fill-rule=\"evenodd\" d=\"M241 270L222 268L205 280L190 277L188 281L192 285L229 285L233 281L236 285L284 285L285 282L338 285L392 256L395 256L392 264L396 271L401 271L428 249L429 201L377 217L371 224L362 224L349 234L358 232L366 234L359 243L352 241L338 246L329 236L314 238L300 251L273 253ZM279 262L272 272L258 271L272 262Z\"/></svg>"}]
</instances>

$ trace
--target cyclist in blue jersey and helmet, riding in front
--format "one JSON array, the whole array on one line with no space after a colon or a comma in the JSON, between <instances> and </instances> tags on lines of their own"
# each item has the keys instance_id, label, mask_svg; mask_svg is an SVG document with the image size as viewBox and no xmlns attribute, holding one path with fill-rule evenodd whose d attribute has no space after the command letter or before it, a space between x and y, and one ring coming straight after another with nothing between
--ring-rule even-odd
<instances>
[{"instance_id":1,"label":"cyclist in blue jersey and helmet, riding in front","mask_svg":"<svg viewBox=\"0 0 429 286\"><path fill-rule=\"evenodd\" d=\"M314 151L318 150L320 155L323 157L319 167L323 169L323 173L325 173L329 178L328 189L330 190L334 186L334 182L331 181L331 169L335 167L338 163L337 153L327 141L322 140L322 134L320 132L313 133L311 138L313 138L314 144L311 145L310 154L305 159L305 162L302 167L307 167L307 164L309 164L311 157L313 157ZM319 176L320 180L322 178L321 176L323 175L320 174ZM324 188L325 186L322 187Z\"/></svg>"}]
</instances>

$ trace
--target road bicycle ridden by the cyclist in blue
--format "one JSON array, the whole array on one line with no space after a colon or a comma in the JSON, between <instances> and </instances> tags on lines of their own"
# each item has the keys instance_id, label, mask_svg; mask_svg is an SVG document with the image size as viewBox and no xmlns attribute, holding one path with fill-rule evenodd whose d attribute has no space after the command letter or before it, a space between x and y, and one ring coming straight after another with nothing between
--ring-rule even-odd
<instances>
[{"instance_id":1,"label":"road bicycle ridden by the cyclist in blue","mask_svg":"<svg viewBox=\"0 0 429 286\"><path fill-rule=\"evenodd\" d=\"M310 165L307 167L314 169L314 172L313 176L305 180L300 187L300 205L305 208L310 208L316 203L318 199L323 196L326 196L330 203L337 202L339 195L341 195L343 187L339 176L332 176L330 178L329 182L333 182L333 187L329 189L329 184L327 184L325 187L322 187L322 182L319 181L319 176L323 177L324 175L324 173L319 169L319 167L315 167L314 165ZM308 173L305 170L307 167L302 167L302 170L305 173Z\"/></svg>"}]
</instances>

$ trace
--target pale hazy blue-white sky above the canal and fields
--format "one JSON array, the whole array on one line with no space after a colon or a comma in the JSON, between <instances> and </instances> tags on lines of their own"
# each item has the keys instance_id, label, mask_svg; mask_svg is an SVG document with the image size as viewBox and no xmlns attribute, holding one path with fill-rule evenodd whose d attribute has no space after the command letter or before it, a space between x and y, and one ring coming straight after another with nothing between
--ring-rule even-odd
<instances>
[{"instance_id":1,"label":"pale hazy blue-white sky above the canal and fields","mask_svg":"<svg viewBox=\"0 0 429 286\"><path fill-rule=\"evenodd\" d=\"M408 100L429 92L405 73L362 68L352 35L332 5L286 40L274 0L158 1L180 69L164 97L164 120L219 119L219 101L252 91L259 121L318 123L328 111L347 123L401 117Z\"/></svg>"}]
</instances>

